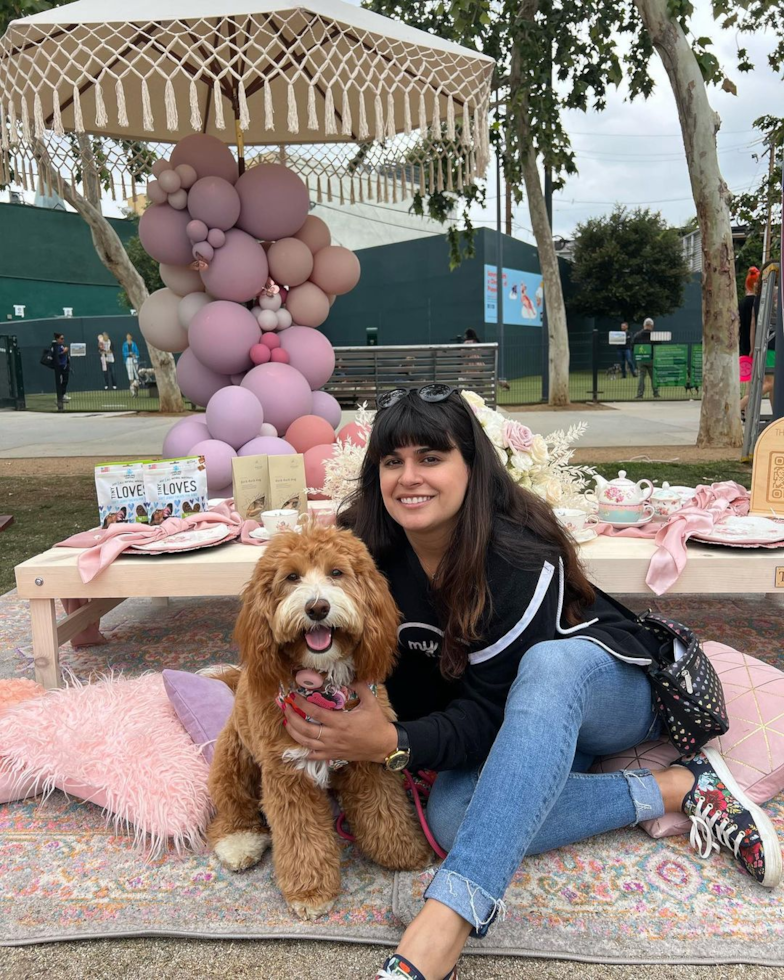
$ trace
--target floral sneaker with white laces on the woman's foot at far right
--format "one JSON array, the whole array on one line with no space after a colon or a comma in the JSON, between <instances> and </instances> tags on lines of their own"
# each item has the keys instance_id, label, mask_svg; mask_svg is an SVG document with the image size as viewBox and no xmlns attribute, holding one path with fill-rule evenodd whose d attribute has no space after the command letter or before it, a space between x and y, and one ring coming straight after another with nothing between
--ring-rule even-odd
<instances>
[{"instance_id":1,"label":"floral sneaker with white laces on the woman's foot at far right","mask_svg":"<svg viewBox=\"0 0 784 980\"><path fill-rule=\"evenodd\" d=\"M703 749L691 762L678 765L695 778L683 798L683 812L691 819L692 847L708 858L721 845L755 881L775 888L782 875L776 830L767 814L744 795L721 755Z\"/></svg>"}]
</instances>

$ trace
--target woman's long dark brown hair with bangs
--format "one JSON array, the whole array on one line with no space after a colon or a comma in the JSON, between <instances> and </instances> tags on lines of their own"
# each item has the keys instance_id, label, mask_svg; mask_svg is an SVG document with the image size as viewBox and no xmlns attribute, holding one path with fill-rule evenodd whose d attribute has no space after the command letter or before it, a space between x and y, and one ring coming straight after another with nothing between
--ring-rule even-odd
<instances>
[{"instance_id":1,"label":"woman's long dark brown hair with bangs","mask_svg":"<svg viewBox=\"0 0 784 980\"><path fill-rule=\"evenodd\" d=\"M471 471L460 519L434 579L444 623L440 666L445 677L460 677L465 671L467 644L482 638L483 623L492 611L486 573L491 546L517 568L538 570L542 561L557 564L562 558L564 618L570 625L582 621L581 611L593 602L594 591L567 532L544 500L512 480L457 392L436 403L410 393L378 413L359 487L338 517L340 526L351 528L376 559L405 544L405 532L387 513L379 485L381 460L401 446L427 446L438 452L456 448ZM530 532L524 547L521 529Z\"/></svg>"}]
</instances>

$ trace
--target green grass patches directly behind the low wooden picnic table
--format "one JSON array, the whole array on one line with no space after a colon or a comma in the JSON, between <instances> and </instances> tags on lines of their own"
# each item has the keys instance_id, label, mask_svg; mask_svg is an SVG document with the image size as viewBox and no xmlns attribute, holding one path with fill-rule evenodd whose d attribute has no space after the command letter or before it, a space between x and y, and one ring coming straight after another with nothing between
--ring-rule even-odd
<instances>
[{"instance_id":1,"label":"green grass patches directly behind the low wooden picnic table","mask_svg":"<svg viewBox=\"0 0 784 980\"><path fill-rule=\"evenodd\" d=\"M647 477L654 484L663 480L679 486L697 486L719 480L751 484L751 467L737 460L705 463L601 463L596 471L606 479L625 469L632 480ZM14 523L0 533L0 594L16 586L14 566L31 558L76 531L94 527L98 521L95 480L84 476L2 476L0 513L13 514Z\"/></svg>"}]
</instances>

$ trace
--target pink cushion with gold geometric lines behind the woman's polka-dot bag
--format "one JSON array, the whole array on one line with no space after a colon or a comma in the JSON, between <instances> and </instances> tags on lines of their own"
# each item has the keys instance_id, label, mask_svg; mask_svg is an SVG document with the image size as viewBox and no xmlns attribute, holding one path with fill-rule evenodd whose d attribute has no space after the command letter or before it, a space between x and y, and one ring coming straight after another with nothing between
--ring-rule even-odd
<instances>
[{"instance_id":1,"label":"pink cushion with gold geometric lines behind the woman's polka-dot bag","mask_svg":"<svg viewBox=\"0 0 784 980\"><path fill-rule=\"evenodd\" d=\"M717 748L730 772L755 803L766 803L784 790L784 673L723 643L706 643L705 652L724 687L730 727L709 744ZM678 758L669 742L644 742L635 749L607 756L592 772L618 769L666 769ZM641 824L651 837L688 833L682 813L668 813Z\"/></svg>"}]
</instances>

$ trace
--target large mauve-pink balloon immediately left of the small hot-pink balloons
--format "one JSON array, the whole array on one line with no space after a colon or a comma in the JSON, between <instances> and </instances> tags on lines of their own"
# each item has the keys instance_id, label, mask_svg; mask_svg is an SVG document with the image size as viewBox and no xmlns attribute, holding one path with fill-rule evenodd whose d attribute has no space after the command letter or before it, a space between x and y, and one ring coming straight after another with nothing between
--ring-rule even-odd
<instances>
[{"instance_id":1,"label":"large mauve-pink balloon immediately left of the small hot-pink balloons","mask_svg":"<svg viewBox=\"0 0 784 980\"><path fill-rule=\"evenodd\" d=\"M251 366L249 351L260 337L259 325L250 310L227 300L203 306L188 327L193 353L202 364L224 375Z\"/></svg>"}]
</instances>

